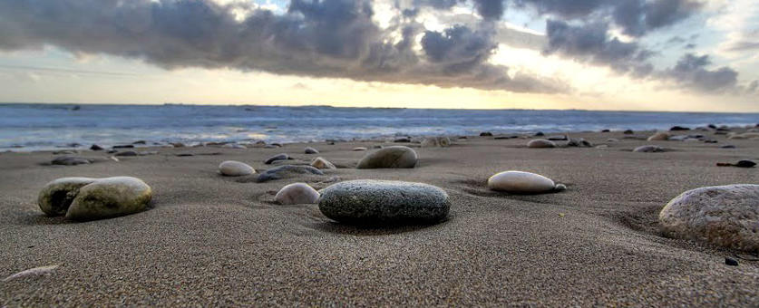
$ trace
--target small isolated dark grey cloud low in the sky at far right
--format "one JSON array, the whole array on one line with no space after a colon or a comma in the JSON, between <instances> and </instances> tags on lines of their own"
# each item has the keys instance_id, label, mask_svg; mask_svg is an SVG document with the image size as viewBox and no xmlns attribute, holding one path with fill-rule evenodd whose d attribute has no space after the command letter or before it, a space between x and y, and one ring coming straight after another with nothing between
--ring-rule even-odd
<instances>
[{"instance_id":1,"label":"small isolated dark grey cloud low in the sky at far right","mask_svg":"<svg viewBox=\"0 0 759 308\"><path fill-rule=\"evenodd\" d=\"M708 55L686 53L675 67L663 72L664 76L690 89L704 92L731 91L736 88L738 72L729 67L710 71Z\"/></svg>"}]
</instances>

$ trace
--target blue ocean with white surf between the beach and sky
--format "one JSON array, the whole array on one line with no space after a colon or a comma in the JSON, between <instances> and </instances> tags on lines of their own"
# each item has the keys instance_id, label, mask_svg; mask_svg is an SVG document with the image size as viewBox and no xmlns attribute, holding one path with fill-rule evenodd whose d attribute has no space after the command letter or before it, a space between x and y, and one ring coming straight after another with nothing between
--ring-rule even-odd
<instances>
[{"instance_id":1,"label":"blue ocean with white surf between the beach and sky","mask_svg":"<svg viewBox=\"0 0 759 308\"><path fill-rule=\"evenodd\" d=\"M0 150L62 149L74 143L107 147L135 140L298 142L482 131L667 130L710 123L756 125L759 113L6 103L0 104Z\"/></svg>"}]
</instances>

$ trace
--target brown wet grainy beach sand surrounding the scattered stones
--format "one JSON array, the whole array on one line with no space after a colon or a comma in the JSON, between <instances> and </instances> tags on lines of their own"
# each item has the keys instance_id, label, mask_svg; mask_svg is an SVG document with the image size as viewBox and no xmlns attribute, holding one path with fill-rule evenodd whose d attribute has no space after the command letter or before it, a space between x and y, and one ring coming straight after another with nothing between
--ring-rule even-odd
<instances>
[{"instance_id":1,"label":"brown wet grainy beach sand surrounding the scattered stones","mask_svg":"<svg viewBox=\"0 0 759 308\"><path fill-rule=\"evenodd\" d=\"M650 132L639 132L647 137ZM711 133L707 133L711 135ZM223 160L257 170L278 153L355 166L355 147L379 142L288 144L281 149L157 149L158 155L73 167L44 166L51 153L0 154L0 306L48 305L735 305L759 304L759 262L659 234L657 214L680 193L758 183L759 141L717 144L623 140L578 133L608 149L527 149L527 140L470 137L416 149L412 169L325 170L325 177L255 183L219 176ZM389 144L389 143L388 143ZM671 151L633 153L657 144ZM737 149L719 149L735 144ZM387 145L387 144L386 144ZM306 146L317 155L302 154ZM177 157L178 153L221 153ZM104 158L102 152L83 156ZM491 192L503 170L536 172L568 186L545 195ZM139 214L72 223L36 205L61 177L131 176L153 189ZM418 181L445 189L449 219L434 226L343 226L313 206L279 206L277 190L348 179Z\"/></svg>"}]
</instances>

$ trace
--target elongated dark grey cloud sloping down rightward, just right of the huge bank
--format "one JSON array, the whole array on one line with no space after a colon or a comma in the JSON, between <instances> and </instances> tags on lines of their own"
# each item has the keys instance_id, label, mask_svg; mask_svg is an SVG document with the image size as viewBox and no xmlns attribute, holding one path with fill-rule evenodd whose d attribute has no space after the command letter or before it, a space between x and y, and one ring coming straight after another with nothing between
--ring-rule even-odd
<instances>
[{"instance_id":1,"label":"elongated dark grey cloud sloping down rightward, just right of the huge bank","mask_svg":"<svg viewBox=\"0 0 759 308\"><path fill-rule=\"evenodd\" d=\"M646 76L653 70L647 59L653 52L637 43L625 43L608 35L608 24L570 25L548 20L548 44L544 53L560 53L580 62L607 65L618 72Z\"/></svg>"}]
</instances>

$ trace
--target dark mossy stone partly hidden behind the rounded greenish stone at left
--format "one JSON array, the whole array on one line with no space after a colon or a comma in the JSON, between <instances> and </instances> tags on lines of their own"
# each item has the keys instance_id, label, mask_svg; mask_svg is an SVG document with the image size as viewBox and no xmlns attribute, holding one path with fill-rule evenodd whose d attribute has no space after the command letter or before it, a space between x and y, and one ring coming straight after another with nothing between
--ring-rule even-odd
<instances>
[{"instance_id":1,"label":"dark mossy stone partly hidden behind the rounded greenish stone at left","mask_svg":"<svg viewBox=\"0 0 759 308\"><path fill-rule=\"evenodd\" d=\"M37 197L37 205L47 216L63 216L71 206L79 188L91 184L97 178L58 178L47 183Z\"/></svg>"}]
</instances>

